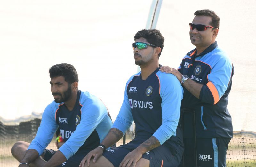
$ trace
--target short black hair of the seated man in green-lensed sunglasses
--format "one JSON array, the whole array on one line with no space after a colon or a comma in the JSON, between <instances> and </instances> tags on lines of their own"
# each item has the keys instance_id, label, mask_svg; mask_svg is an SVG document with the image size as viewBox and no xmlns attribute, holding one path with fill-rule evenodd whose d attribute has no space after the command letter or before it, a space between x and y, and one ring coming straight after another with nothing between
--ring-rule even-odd
<instances>
[{"instance_id":1,"label":"short black hair of the seated man in green-lensed sunglasses","mask_svg":"<svg viewBox=\"0 0 256 167\"><path fill-rule=\"evenodd\" d=\"M164 37L160 33L159 30L156 29L143 29L138 31L135 36L135 39L145 38L150 44L159 46L161 48L161 52L163 51L164 47ZM158 57L161 55L161 52L158 54Z\"/></svg>"}]
</instances>

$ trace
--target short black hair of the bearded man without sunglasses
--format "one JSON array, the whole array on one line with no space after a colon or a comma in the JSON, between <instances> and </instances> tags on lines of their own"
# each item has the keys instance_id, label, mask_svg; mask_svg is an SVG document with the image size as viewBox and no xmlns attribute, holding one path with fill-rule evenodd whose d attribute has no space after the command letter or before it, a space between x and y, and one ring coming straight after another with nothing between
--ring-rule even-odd
<instances>
[{"instance_id":1,"label":"short black hair of the bearded man without sunglasses","mask_svg":"<svg viewBox=\"0 0 256 167\"><path fill-rule=\"evenodd\" d=\"M63 76L68 84L78 82L78 74L71 64L61 63L55 64L49 69L50 78Z\"/></svg>"}]
</instances>

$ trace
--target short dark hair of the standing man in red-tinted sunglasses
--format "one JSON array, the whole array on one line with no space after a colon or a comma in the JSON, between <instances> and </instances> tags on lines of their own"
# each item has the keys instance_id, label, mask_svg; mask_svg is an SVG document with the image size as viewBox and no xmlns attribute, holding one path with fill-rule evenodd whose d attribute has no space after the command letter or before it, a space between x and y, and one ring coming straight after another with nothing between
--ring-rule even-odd
<instances>
[{"instance_id":1,"label":"short dark hair of the standing man in red-tinted sunglasses","mask_svg":"<svg viewBox=\"0 0 256 167\"><path fill-rule=\"evenodd\" d=\"M195 16L210 16L212 18L212 21L210 22L210 25L212 27L216 27L220 29L220 17L214 12L209 9L203 9L198 10L194 13Z\"/></svg>"}]
</instances>

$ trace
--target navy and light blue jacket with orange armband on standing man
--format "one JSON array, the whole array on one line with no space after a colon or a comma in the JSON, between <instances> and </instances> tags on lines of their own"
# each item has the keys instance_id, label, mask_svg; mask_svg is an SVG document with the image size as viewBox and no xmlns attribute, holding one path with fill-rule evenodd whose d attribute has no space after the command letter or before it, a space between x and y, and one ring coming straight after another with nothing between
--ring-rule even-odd
<instances>
[{"instance_id":1,"label":"navy and light blue jacket with orange armband on standing man","mask_svg":"<svg viewBox=\"0 0 256 167\"><path fill-rule=\"evenodd\" d=\"M201 54L196 52L194 49L183 58L178 71L203 84L200 99L184 88L181 108L195 110L197 138L232 138L233 127L227 109L234 72L232 62L217 41Z\"/></svg>"}]
</instances>

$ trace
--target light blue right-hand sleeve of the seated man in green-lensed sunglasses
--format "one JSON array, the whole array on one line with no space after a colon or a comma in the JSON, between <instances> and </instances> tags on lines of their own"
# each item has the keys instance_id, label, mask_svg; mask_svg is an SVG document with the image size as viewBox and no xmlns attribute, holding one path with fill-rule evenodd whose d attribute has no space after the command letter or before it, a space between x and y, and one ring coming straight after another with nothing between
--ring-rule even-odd
<instances>
[{"instance_id":1,"label":"light blue right-hand sleeve of the seated man in green-lensed sunglasses","mask_svg":"<svg viewBox=\"0 0 256 167\"><path fill-rule=\"evenodd\" d=\"M160 96L162 98L162 125L153 134L163 144L171 136L176 136L176 129L180 119L180 104L183 88L178 79L167 73L156 75L160 80Z\"/></svg>"}]
</instances>

